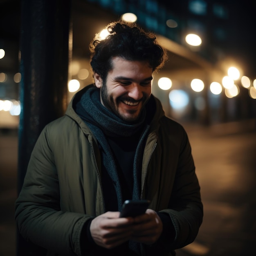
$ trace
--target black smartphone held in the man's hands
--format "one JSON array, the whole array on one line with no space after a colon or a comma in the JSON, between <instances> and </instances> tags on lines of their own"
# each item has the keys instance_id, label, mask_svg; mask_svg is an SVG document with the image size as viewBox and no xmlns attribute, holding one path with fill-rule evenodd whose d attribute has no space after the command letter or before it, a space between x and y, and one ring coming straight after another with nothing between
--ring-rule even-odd
<instances>
[{"instance_id":1,"label":"black smartphone held in the man's hands","mask_svg":"<svg viewBox=\"0 0 256 256\"><path fill-rule=\"evenodd\" d=\"M126 200L123 204L120 218L136 217L145 213L148 209L149 200Z\"/></svg>"}]
</instances>

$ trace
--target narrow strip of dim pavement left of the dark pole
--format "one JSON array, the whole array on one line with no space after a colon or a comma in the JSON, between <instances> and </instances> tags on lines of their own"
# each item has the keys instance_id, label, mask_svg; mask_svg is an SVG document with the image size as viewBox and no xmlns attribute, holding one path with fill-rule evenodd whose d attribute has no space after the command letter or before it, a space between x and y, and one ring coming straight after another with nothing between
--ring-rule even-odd
<instances>
[{"instance_id":1,"label":"narrow strip of dim pavement left of the dark pole","mask_svg":"<svg viewBox=\"0 0 256 256\"><path fill-rule=\"evenodd\" d=\"M14 202L17 198L18 135L0 131L0 256L16 255Z\"/></svg>"}]
</instances>

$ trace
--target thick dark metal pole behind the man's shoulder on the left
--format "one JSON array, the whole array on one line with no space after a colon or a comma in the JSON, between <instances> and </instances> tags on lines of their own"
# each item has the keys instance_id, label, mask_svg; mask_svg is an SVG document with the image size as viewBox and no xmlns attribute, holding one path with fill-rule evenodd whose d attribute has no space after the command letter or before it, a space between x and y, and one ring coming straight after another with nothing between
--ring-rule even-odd
<instances>
[{"instance_id":1,"label":"thick dark metal pole behind the man's shoulder on the left","mask_svg":"<svg viewBox=\"0 0 256 256\"><path fill-rule=\"evenodd\" d=\"M34 144L67 105L71 0L21 0L18 193ZM17 255L43 255L17 236Z\"/></svg>"}]
</instances>

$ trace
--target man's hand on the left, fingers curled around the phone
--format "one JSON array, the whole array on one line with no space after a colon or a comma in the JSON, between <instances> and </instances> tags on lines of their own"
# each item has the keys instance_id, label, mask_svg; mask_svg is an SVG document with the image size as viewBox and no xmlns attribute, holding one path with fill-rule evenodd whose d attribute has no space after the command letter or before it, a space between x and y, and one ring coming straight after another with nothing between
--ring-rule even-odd
<instances>
[{"instance_id":1,"label":"man's hand on the left, fingers curled around the phone","mask_svg":"<svg viewBox=\"0 0 256 256\"><path fill-rule=\"evenodd\" d=\"M119 215L119 211L108 211L92 220L90 232L97 245L111 249L131 238L133 218L119 218Z\"/></svg>"}]
</instances>

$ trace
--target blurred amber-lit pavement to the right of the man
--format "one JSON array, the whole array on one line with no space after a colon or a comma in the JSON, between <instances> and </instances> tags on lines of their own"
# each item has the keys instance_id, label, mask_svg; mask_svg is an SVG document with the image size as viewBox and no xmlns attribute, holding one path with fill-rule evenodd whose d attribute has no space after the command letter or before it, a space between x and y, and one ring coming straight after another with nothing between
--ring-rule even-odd
<instances>
[{"instance_id":1,"label":"blurred amber-lit pavement to the right of the man","mask_svg":"<svg viewBox=\"0 0 256 256\"><path fill-rule=\"evenodd\" d=\"M177 256L256 256L255 121L187 128L204 220Z\"/></svg>"}]
</instances>

